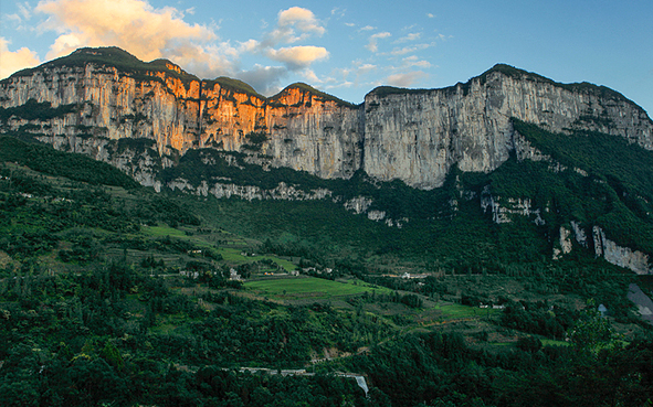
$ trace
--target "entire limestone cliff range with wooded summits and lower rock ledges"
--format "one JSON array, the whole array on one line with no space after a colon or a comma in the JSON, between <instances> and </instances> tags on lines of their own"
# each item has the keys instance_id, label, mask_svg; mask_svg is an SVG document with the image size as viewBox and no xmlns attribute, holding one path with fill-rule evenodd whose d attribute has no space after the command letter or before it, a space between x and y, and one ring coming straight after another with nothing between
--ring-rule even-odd
<instances>
[{"instance_id":1,"label":"entire limestone cliff range with wooded summits and lower rock ledges","mask_svg":"<svg viewBox=\"0 0 653 407\"><path fill-rule=\"evenodd\" d=\"M544 162L560 175L580 175L588 185L605 182L590 175L589 168L568 161L566 167L539 151L533 138L515 130L518 124L568 135L599 131L653 150L653 121L619 93L587 83L559 84L507 65L442 89L379 87L360 105L305 84L264 97L240 81L200 79L170 61L144 63L118 49L82 49L0 82L0 132L30 132L56 149L109 162L157 191L331 200L396 227L418 222L386 205L381 195L372 199L369 190L344 192L351 183L325 180L354 176L354 182L360 175L373 188L400 180L422 194L435 194L439 190L430 190L451 180L454 168L489 173L515 157ZM465 190L454 178L455 191L438 201L447 202L447 208L429 208L420 216L451 218L474 201L497 224L507 227L524 216L540 232L546 228L554 258L580 246L636 272L653 269L650 246L623 247L599 223L586 218L590 226L583 228L582 217L557 217L550 200L504 195L492 182ZM401 197L383 196L403 206L397 205ZM640 197L644 206L653 202L653 195ZM653 207L640 213L649 216ZM636 246L632 239L631 246Z\"/></svg>"}]
</instances>

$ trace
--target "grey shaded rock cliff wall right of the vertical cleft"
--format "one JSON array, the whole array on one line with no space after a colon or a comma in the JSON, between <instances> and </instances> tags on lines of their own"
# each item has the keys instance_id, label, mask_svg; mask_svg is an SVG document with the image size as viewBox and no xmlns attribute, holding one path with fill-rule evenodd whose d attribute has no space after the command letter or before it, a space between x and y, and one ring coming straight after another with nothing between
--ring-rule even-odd
<instances>
[{"instance_id":1,"label":"grey shaded rock cliff wall right of the vertical cleft","mask_svg":"<svg viewBox=\"0 0 653 407\"><path fill-rule=\"evenodd\" d=\"M515 149L512 117L554 132L602 131L653 149L653 122L645 111L596 89L573 92L491 71L444 89L372 92L365 100L364 169L424 189L442 185L453 164L462 171L495 170Z\"/></svg>"}]
</instances>

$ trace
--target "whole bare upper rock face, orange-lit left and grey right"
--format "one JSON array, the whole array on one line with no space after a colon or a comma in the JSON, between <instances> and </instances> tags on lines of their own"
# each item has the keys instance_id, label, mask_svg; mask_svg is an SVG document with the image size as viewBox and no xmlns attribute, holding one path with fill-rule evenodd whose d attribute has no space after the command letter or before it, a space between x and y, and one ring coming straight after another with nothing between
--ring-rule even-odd
<instances>
[{"instance_id":1,"label":"whole bare upper rock face, orange-lit left and grey right","mask_svg":"<svg viewBox=\"0 0 653 407\"><path fill-rule=\"evenodd\" d=\"M360 106L301 84L265 98L180 72L172 64L137 74L92 62L45 64L2 81L1 106L35 99L53 108L74 104L75 111L48 120L13 117L2 126L36 126L35 132L51 136L44 140L73 151L81 135L147 138L161 156L214 148L325 179L361 169L420 189L442 185L454 164L483 172L501 165L515 149L510 117L550 131L598 130L653 149L653 122L623 96L514 68L495 67L444 89L379 88ZM82 150L103 159L97 149Z\"/></svg>"}]
</instances>

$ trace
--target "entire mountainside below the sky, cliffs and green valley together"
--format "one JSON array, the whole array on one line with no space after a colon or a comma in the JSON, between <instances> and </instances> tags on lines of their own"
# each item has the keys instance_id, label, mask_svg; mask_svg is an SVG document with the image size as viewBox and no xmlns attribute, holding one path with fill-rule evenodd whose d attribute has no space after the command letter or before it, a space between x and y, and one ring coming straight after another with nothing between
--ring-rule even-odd
<instances>
[{"instance_id":1,"label":"entire mountainside below the sky, cliffs and green valley together","mask_svg":"<svg viewBox=\"0 0 653 407\"><path fill-rule=\"evenodd\" d=\"M618 92L266 98L112 47L0 105L2 405L653 399L653 122Z\"/></svg>"}]
</instances>

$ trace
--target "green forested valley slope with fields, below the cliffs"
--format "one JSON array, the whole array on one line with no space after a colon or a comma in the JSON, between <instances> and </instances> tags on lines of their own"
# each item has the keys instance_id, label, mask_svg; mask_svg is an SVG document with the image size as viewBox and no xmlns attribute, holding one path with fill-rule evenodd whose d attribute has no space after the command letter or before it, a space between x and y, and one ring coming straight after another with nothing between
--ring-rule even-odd
<instances>
[{"instance_id":1,"label":"green forested valley slope with fields, below the cliffs","mask_svg":"<svg viewBox=\"0 0 653 407\"><path fill-rule=\"evenodd\" d=\"M333 200L155 193L2 136L0 405L650 406L653 331L626 292L653 280L576 244L551 253L571 221L653 253L653 156L515 128L566 169L513 157L419 191L199 150L161 175L368 196L401 228ZM598 165L605 151L630 159ZM496 224L487 191L548 207L545 223Z\"/></svg>"}]
</instances>

